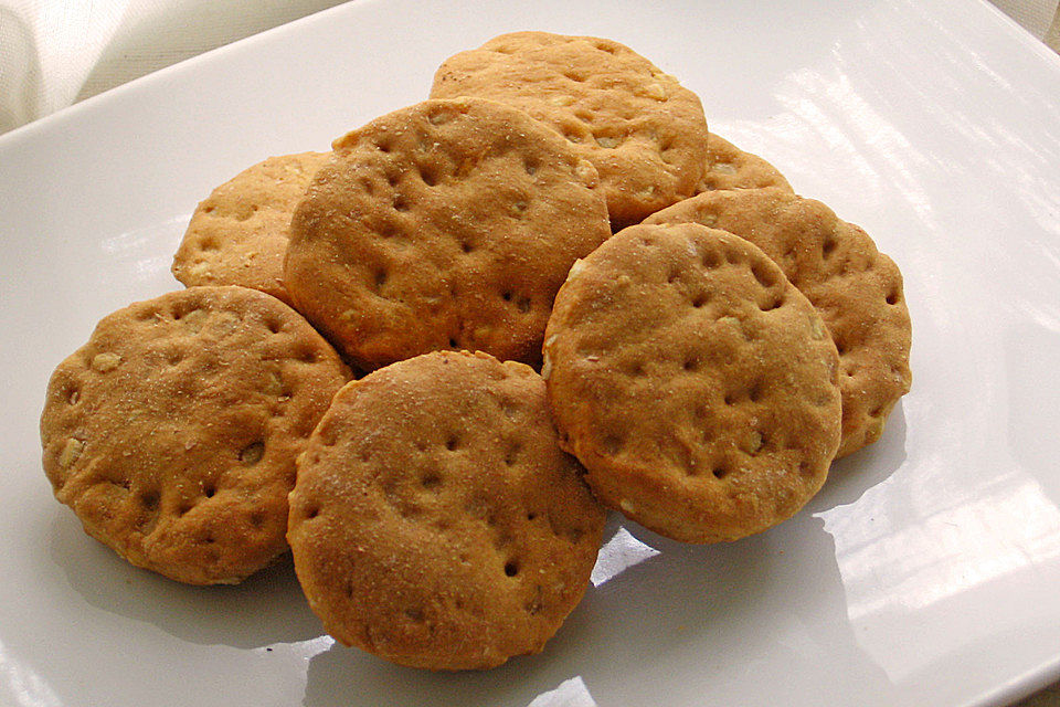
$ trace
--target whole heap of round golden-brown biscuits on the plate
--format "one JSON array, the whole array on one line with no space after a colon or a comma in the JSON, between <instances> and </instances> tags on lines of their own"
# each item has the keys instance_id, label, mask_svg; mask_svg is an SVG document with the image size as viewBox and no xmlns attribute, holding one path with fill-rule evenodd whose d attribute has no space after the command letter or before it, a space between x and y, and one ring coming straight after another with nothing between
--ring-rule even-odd
<instances>
[{"instance_id":1,"label":"whole heap of round golden-brown biscuits on the plate","mask_svg":"<svg viewBox=\"0 0 1060 707\"><path fill-rule=\"evenodd\" d=\"M490 667L581 600L604 507L760 532L909 390L891 260L617 42L498 36L332 148L214 190L188 288L49 383L55 495L134 564L289 547L342 643Z\"/></svg>"}]
</instances>

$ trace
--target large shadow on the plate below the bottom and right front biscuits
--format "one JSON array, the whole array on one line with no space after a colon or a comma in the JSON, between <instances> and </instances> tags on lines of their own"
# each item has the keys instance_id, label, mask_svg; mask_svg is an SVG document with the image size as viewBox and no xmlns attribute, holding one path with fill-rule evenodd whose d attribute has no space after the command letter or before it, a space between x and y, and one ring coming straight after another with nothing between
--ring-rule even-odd
<instances>
[{"instance_id":1,"label":"large shadow on the plate below the bottom and right front biscuits","mask_svg":"<svg viewBox=\"0 0 1060 707\"><path fill-rule=\"evenodd\" d=\"M640 553L640 561L590 587L543 653L492 671L453 674L404 668L335 644L310 659L303 704L543 707L553 705L545 695L572 678L587 693L579 705L659 704L660 684L679 677L678 692L708 694L700 690L712 680L735 673L745 678L741 666L755 662L791 667L791 674L771 675L755 687L775 697L801 679L794 676L812 675L812 665L836 654L842 655L835 667L844 675L837 685L854 682L877 695L891 689L855 641L835 545L820 519L802 514L783 531L714 546L675 542L617 516L605 538L623 532L655 553ZM805 601L793 602L793 592ZM807 634L802 642L816 646L816 654L777 641L792 632ZM827 695L838 688L815 689Z\"/></svg>"}]
</instances>

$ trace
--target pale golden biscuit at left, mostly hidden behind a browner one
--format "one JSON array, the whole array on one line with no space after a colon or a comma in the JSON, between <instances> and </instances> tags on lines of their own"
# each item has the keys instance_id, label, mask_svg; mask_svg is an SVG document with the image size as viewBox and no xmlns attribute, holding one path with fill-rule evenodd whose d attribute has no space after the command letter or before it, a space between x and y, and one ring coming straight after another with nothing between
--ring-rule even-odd
<instances>
[{"instance_id":1,"label":"pale golden biscuit at left, mostly hidden behind a browner one","mask_svg":"<svg viewBox=\"0 0 1060 707\"><path fill-rule=\"evenodd\" d=\"M188 287L241 285L290 304L283 278L290 214L329 157L269 157L214 189L188 223L173 276Z\"/></svg>"}]
</instances>

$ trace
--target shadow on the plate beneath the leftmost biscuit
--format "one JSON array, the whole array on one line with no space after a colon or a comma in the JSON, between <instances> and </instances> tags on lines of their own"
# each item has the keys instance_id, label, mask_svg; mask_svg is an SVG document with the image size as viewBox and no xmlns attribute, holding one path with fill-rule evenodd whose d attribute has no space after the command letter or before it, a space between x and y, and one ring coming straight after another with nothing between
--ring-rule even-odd
<instances>
[{"instance_id":1,"label":"shadow on the plate beneath the leftmost biscuit","mask_svg":"<svg viewBox=\"0 0 1060 707\"><path fill-rule=\"evenodd\" d=\"M47 551L86 602L191 643L263 647L319 636L290 553L233 587L191 587L127 563L56 509Z\"/></svg>"}]
</instances>

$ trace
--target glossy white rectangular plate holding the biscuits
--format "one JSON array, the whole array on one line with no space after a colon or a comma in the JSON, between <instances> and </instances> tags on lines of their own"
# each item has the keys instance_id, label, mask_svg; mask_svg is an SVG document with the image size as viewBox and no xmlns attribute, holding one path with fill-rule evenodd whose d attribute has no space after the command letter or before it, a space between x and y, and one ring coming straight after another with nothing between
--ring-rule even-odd
<instances>
[{"instance_id":1,"label":"glossy white rectangular plate holding the biscuits","mask_svg":"<svg viewBox=\"0 0 1060 707\"><path fill-rule=\"evenodd\" d=\"M979 705L1060 676L1060 59L985 3L716 4L369 0L0 137L0 704ZM613 521L545 652L487 673L332 645L289 564L194 589L86 537L40 467L52 368L178 287L212 187L527 28L651 57L894 257L914 383L883 440L759 537Z\"/></svg>"}]
</instances>

